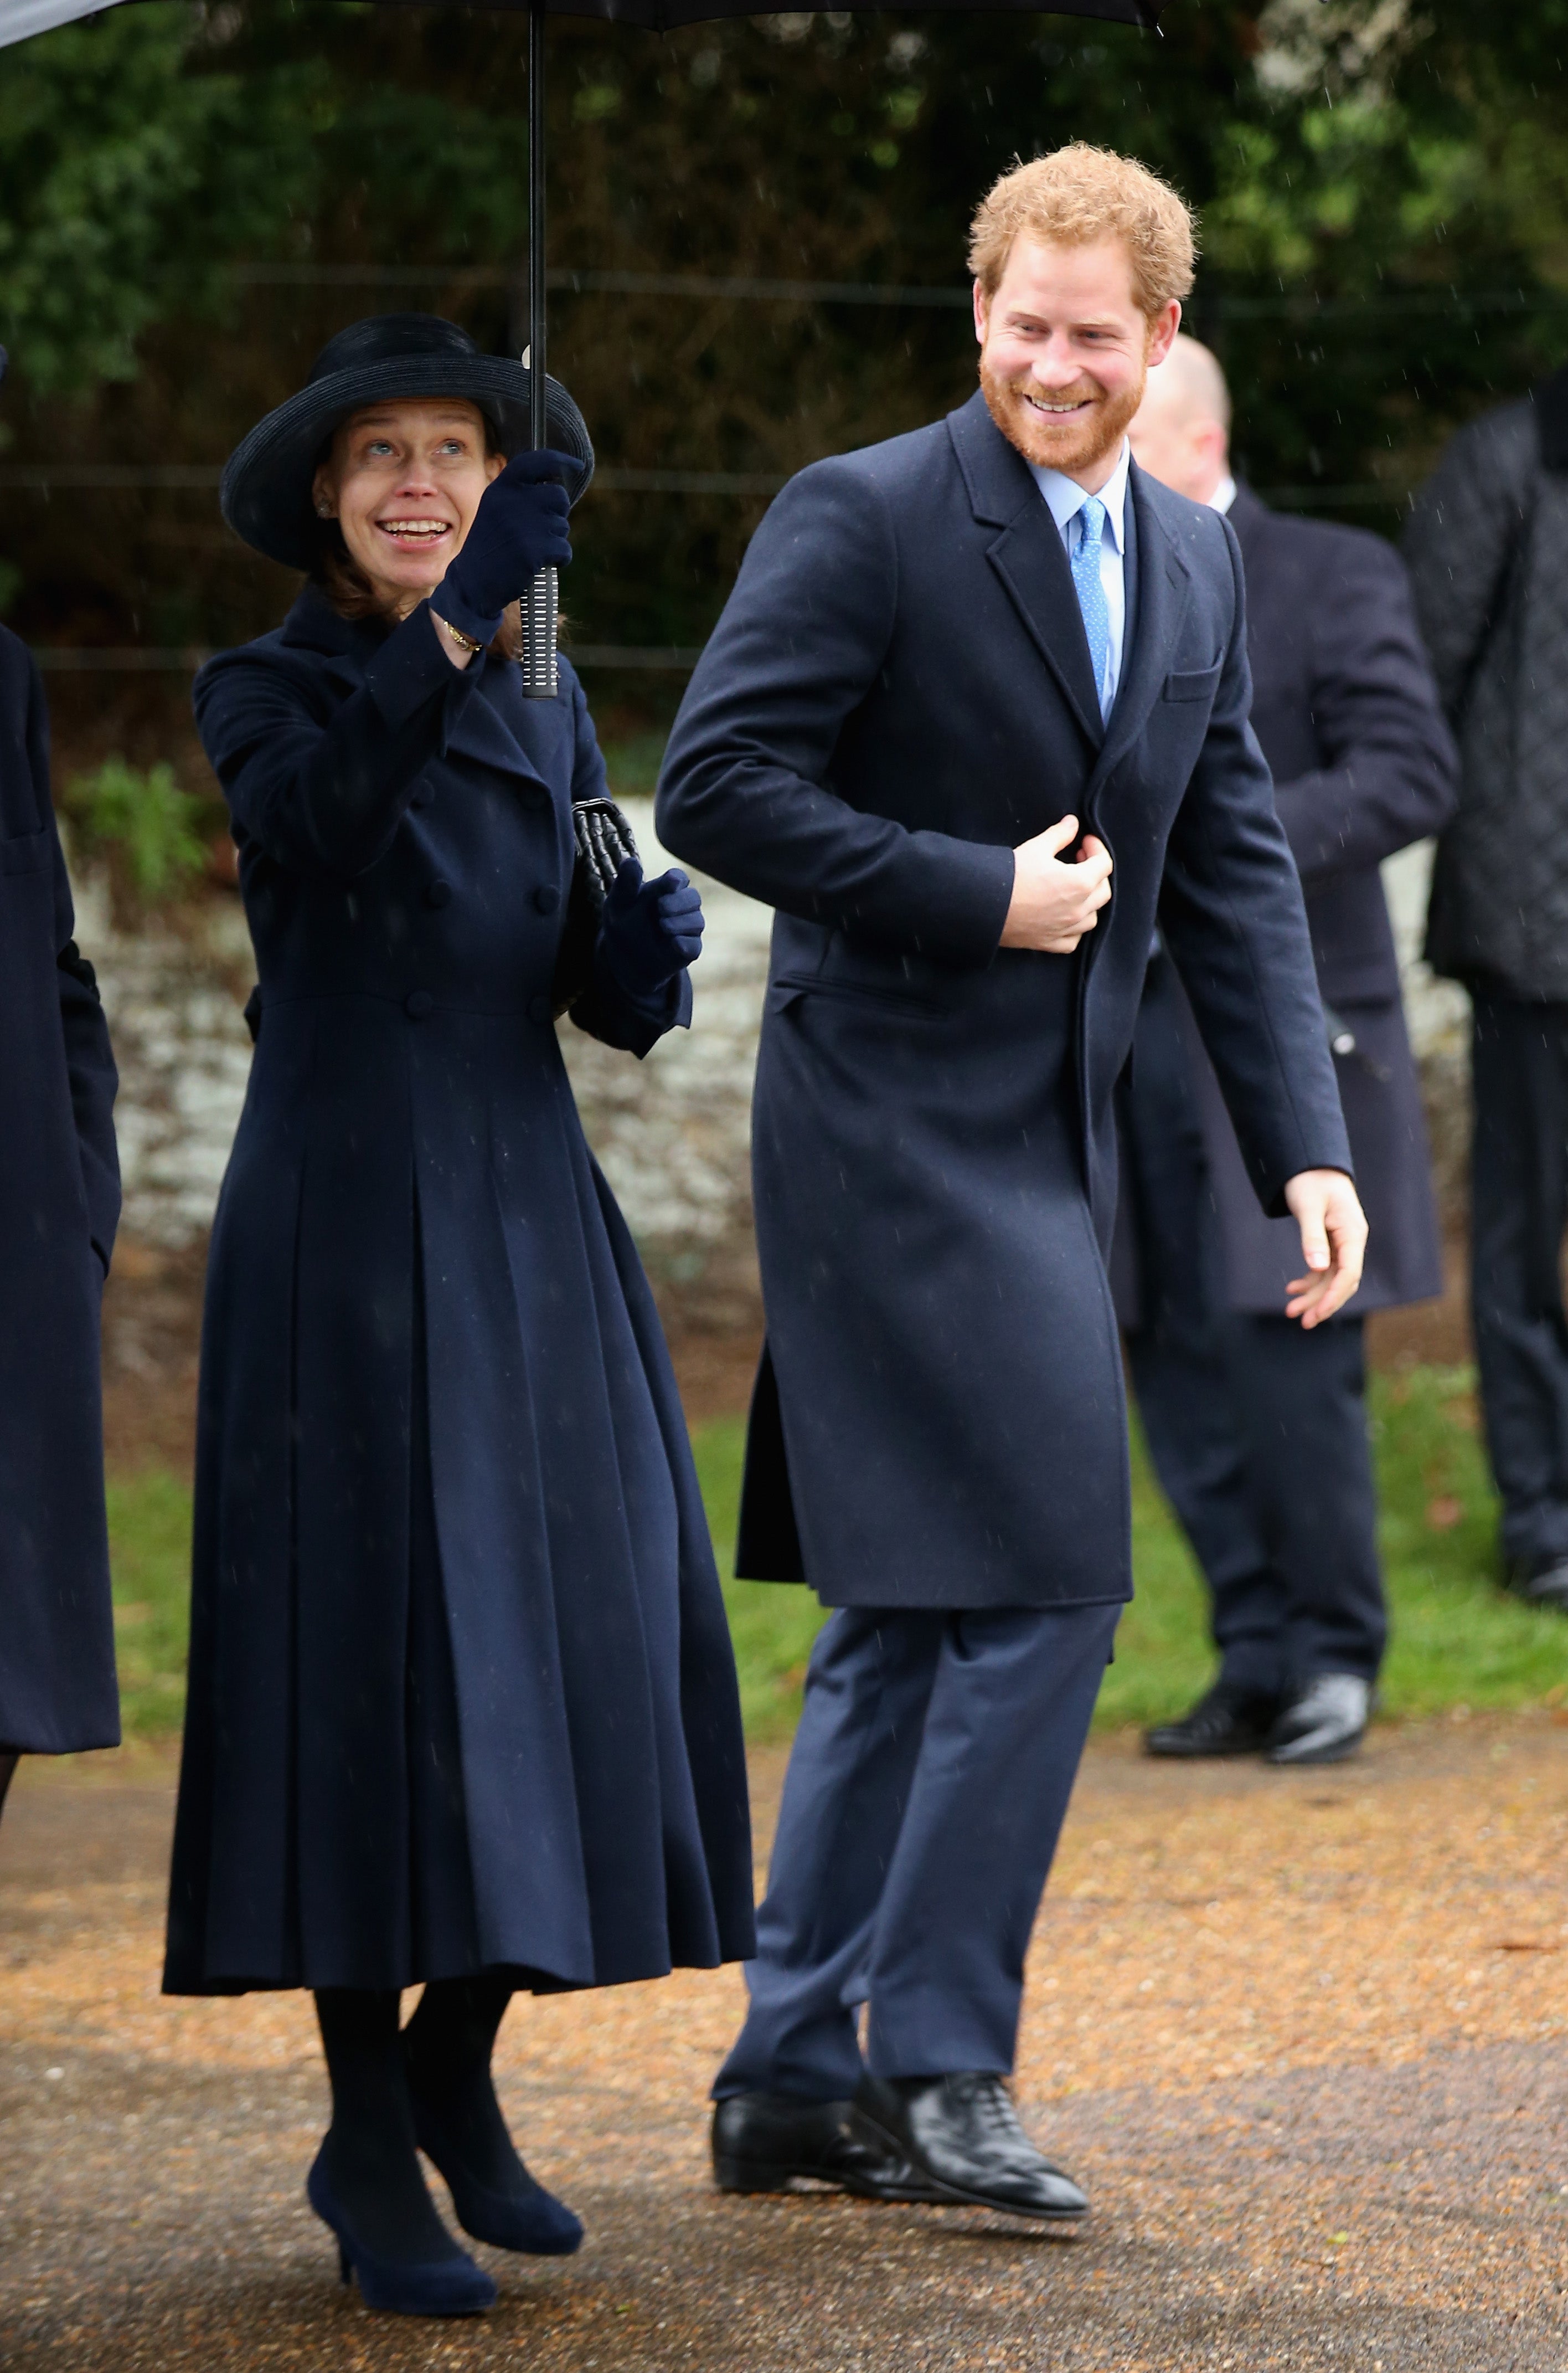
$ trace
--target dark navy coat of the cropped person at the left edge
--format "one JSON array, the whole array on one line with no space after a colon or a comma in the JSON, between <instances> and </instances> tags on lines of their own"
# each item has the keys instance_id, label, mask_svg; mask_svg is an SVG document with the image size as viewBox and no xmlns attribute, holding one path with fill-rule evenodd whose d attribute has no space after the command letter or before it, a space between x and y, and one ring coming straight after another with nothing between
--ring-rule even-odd
<instances>
[{"instance_id":1,"label":"dark navy coat of the cropped person at the left edge","mask_svg":"<svg viewBox=\"0 0 1568 2373\"><path fill-rule=\"evenodd\" d=\"M50 726L0 626L0 1751L119 1744L97 1315L114 1054L71 942Z\"/></svg>"}]
</instances>

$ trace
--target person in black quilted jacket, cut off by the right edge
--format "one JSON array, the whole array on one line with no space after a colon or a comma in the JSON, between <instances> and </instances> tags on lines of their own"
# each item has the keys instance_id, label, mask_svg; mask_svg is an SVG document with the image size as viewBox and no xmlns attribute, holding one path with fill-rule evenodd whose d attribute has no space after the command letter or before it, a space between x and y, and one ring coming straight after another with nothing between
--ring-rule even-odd
<instances>
[{"instance_id":1,"label":"person in black quilted jacket, cut off by the right edge","mask_svg":"<svg viewBox=\"0 0 1568 2373\"><path fill-rule=\"evenodd\" d=\"M1504 1583L1568 1614L1568 370L1449 444L1404 555L1459 736L1426 954L1471 992L1471 1322Z\"/></svg>"}]
</instances>

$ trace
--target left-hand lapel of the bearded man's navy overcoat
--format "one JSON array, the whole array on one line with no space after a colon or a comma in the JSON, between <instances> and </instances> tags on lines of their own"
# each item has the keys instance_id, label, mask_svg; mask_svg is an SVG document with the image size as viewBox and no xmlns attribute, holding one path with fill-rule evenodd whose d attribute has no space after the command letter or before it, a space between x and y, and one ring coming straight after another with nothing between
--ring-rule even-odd
<instances>
[{"instance_id":1,"label":"left-hand lapel of the bearded man's navy overcoat","mask_svg":"<svg viewBox=\"0 0 1568 2373\"><path fill-rule=\"evenodd\" d=\"M970 396L963 411L946 415L946 425L975 520L1001 527L996 541L987 546L987 560L1044 653L1067 707L1098 750L1105 726L1089 636L1056 520L1022 453L1008 444L984 408L984 396Z\"/></svg>"}]
</instances>

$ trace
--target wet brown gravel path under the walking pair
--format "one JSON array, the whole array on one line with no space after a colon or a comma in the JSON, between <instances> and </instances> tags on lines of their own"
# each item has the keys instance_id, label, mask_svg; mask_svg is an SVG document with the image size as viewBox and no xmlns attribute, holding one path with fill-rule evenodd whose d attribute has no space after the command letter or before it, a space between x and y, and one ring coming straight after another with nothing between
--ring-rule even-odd
<instances>
[{"instance_id":1,"label":"wet brown gravel path under the walking pair","mask_svg":"<svg viewBox=\"0 0 1568 2373\"><path fill-rule=\"evenodd\" d=\"M1388 1730L1317 1775L1096 1744L1020 2098L1096 2212L719 2200L733 1972L520 2003L503 2091L588 2221L484 2323L368 2316L301 2197L299 1996L157 1996L166 1756L24 1766L0 1830L7 2373L1568 2368L1568 1728ZM778 1758L757 1763L759 1827Z\"/></svg>"}]
</instances>

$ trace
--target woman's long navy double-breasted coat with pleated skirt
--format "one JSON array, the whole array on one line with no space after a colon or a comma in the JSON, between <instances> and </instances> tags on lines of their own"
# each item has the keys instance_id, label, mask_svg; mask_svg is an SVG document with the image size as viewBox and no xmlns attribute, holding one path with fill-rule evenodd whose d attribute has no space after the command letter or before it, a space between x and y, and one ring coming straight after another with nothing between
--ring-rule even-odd
<instances>
[{"instance_id":1,"label":"woman's long navy double-breasted coat with pleated skirt","mask_svg":"<svg viewBox=\"0 0 1568 2373\"><path fill-rule=\"evenodd\" d=\"M581 686L306 591L213 660L261 975L213 1224L166 1989L588 1986L752 1948L669 1357L553 1023ZM598 971L643 1054L690 1011Z\"/></svg>"}]
</instances>

